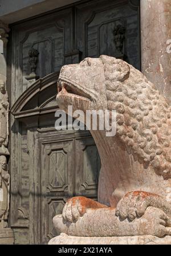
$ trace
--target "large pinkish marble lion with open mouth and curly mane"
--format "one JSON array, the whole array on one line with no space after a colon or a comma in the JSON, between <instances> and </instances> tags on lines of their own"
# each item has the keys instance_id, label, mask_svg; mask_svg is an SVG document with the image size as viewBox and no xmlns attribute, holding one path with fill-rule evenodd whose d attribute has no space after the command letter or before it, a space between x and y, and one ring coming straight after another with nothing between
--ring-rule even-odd
<instances>
[{"instance_id":1,"label":"large pinkish marble lion with open mouth and curly mane","mask_svg":"<svg viewBox=\"0 0 171 256\"><path fill-rule=\"evenodd\" d=\"M98 202L70 198L54 217L79 237L171 235L171 118L154 84L121 59L101 55L62 67L59 107L115 109L116 136L91 131L101 159ZM81 120L82 121L82 120Z\"/></svg>"}]
</instances>

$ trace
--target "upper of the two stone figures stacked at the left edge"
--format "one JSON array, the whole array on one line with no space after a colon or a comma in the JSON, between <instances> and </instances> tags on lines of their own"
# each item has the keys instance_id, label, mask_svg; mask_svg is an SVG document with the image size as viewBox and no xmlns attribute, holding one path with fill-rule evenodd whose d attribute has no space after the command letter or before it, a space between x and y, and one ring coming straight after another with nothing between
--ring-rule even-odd
<instances>
[{"instance_id":1,"label":"upper of the two stone figures stacked at the left edge","mask_svg":"<svg viewBox=\"0 0 171 256\"><path fill-rule=\"evenodd\" d=\"M5 152L9 138L9 101L5 82L0 81L0 147Z\"/></svg>"}]
</instances>

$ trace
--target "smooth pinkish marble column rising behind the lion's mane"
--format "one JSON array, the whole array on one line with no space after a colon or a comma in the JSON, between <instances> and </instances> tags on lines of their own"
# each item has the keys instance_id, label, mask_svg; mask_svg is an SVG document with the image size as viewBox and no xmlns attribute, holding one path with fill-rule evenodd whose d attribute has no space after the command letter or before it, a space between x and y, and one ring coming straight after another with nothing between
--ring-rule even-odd
<instances>
[{"instance_id":1,"label":"smooth pinkish marble column rising behind the lion's mane","mask_svg":"<svg viewBox=\"0 0 171 256\"><path fill-rule=\"evenodd\" d=\"M141 70L171 104L171 2L141 0Z\"/></svg>"}]
</instances>

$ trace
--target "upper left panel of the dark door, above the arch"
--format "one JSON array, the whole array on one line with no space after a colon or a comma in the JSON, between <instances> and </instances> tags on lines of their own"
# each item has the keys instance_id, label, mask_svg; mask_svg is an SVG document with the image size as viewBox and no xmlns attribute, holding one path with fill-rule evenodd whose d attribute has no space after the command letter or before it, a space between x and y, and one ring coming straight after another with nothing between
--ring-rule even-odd
<instances>
[{"instance_id":1,"label":"upper left panel of the dark door, above the arch","mask_svg":"<svg viewBox=\"0 0 171 256\"><path fill-rule=\"evenodd\" d=\"M64 54L72 48L72 9L58 11L41 18L14 25L13 28L14 76L12 79L12 104L30 85L31 74L29 51L38 51L34 72L38 78L60 71ZM32 60L34 61L34 60ZM35 64L35 63L34 63Z\"/></svg>"}]
</instances>

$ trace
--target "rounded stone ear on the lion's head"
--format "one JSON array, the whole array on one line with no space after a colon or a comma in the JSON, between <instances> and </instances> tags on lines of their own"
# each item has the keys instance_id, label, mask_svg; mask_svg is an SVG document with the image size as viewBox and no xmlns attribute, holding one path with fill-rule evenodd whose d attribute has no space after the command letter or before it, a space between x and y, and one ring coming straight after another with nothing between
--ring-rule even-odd
<instances>
[{"instance_id":1,"label":"rounded stone ear on the lion's head","mask_svg":"<svg viewBox=\"0 0 171 256\"><path fill-rule=\"evenodd\" d=\"M104 73L107 80L118 80L123 82L129 78L130 67L124 60L107 55L101 55L100 59L103 62Z\"/></svg>"}]
</instances>

